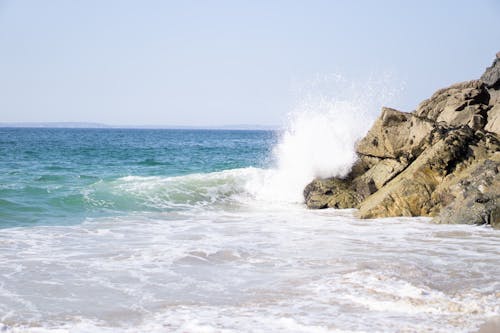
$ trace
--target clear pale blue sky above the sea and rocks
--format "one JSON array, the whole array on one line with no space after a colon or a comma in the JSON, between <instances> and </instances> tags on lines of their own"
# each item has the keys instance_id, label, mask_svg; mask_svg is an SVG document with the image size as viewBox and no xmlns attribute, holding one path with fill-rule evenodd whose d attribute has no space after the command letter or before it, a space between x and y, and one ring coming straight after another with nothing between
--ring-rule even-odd
<instances>
[{"instance_id":1,"label":"clear pale blue sky above the sea and rocks","mask_svg":"<svg viewBox=\"0 0 500 333\"><path fill-rule=\"evenodd\" d=\"M500 0L0 0L0 122L279 125L332 75L411 111L499 41Z\"/></svg>"}]
</instances>

